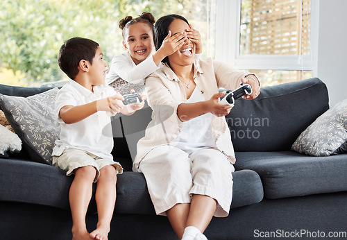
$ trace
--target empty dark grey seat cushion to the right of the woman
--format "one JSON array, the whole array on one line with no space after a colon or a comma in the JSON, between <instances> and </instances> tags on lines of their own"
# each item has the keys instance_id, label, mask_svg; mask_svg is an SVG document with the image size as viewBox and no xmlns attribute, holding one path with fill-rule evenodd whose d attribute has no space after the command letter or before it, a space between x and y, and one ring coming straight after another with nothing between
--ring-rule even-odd
<instances>
[{"instance_id":1,"label":"empty dark grey seat cushion to the right of the woman","mask_svg":"<svg viewBox=\"0 0 347 240\"><path fill-rule=\"evenodd\" d=\"M237 152L235 169L252 169L266 198L347 191L347 154L312 157L294 151Z\"/></svg>"}]
</instances>

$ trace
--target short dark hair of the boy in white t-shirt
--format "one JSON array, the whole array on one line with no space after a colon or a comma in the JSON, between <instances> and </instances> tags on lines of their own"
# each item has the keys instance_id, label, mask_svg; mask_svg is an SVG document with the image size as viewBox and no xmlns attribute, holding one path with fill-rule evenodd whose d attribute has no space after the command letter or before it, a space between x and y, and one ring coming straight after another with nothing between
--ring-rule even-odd
<instances>
[{"instance_id":1,"label":"short dark hair of the boy in white t-shirt","mask_svg":"<svg viewBox=\"0 0 347 240\"><path fill-rule=\"evenodd\" d=\"M73 37L62 44L58 65L62 71L74 80L78 74L78 65L81 60L87 60L93 64L93 58L99 44L83 37Z\"/></svg>"}]
</instances>

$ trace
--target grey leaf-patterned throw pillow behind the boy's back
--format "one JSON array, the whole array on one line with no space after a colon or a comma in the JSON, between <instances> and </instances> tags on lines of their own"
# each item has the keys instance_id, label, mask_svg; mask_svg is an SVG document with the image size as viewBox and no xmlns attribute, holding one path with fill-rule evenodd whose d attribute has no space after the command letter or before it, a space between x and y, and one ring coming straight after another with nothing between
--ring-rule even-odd
<instances>
[{"instance_id":1,"label":"grey leaf-patterned throw pillow behind the boy's back","mask_svg":"<svg viewBox=\"0 0 347 240\"><path fill-rule=\"evenodd\" d=\"M0 94L6 118L35 162L51 164L54 142L59 137L54 114L57 93L58 87L26 98Z\"/></svg>"}]
</instances>

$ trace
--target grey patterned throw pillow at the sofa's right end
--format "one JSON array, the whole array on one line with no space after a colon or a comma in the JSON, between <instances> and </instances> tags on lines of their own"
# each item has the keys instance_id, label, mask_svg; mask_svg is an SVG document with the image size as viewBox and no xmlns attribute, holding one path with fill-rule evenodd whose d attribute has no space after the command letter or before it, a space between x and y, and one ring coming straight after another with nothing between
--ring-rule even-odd
<instances>
[{"instance_id":1,"label":"grey patterned throw pillow at the sofa's right end","mask_svg":"<svg viewBox=\"0 0 347 240\"><path fill-rule=\"evenodd\" d=\"M347 153L347 99L318 117L296 139L291 150L313 156Z\"/></svg>"}]
</instances>

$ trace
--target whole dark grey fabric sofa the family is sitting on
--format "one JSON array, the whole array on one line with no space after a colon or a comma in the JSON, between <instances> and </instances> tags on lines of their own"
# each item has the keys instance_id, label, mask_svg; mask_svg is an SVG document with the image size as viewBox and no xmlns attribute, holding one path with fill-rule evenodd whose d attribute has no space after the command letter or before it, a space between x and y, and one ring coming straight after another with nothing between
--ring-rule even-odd
<instances>
[{"instance_id":1,"label":"whole dark grey fabric sofa the family is sitting on","mask_svg":"<svg viewBox=\"0 0 347 240\"><path fill-rule=\"evenodd\" d=\"M46 88L0 85L0 93L30 96ZM291 151L298 135L329 109L318 78L263 87L253 101L239 99L226 116L237 162L230 215L212 218L208 239L347 237L347 154L312 157ZM131 171L124 138L112 153L118 175L109 239L177 239L169 221L155 216L142 173ZM29 149L0 159L1 239L71 239L68 192L72 177L34 162ZM97 222L95 200L87 214ZM335 234L335 235L334 235Z\"/></svg>"}]
</instances>

